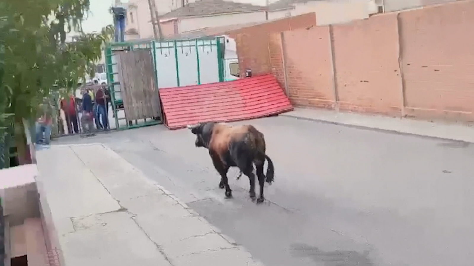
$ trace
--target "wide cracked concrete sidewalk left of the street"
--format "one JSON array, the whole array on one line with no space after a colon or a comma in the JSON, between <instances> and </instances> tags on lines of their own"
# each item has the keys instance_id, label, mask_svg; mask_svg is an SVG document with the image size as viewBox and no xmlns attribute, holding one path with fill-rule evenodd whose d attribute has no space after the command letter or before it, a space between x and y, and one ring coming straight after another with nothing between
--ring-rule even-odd
<instances>
[{"instance_id":1,"label":"wide cracked concrete sidewalk left of the street","mask_svg":"<svg viewBox=\"0 0 474 266\"><path fill-rule=\"evenodd\" d=\"M102 144L53 145L37 162L66 266L263 266Z\"/></svg>"}]
</instances>

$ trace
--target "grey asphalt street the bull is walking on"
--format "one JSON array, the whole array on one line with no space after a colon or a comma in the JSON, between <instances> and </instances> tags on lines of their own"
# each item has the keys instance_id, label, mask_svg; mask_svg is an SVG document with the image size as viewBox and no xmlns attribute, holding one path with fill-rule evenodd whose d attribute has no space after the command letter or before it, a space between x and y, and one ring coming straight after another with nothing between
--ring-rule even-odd
<instances>
[{"instance_id":1,"label":"grey asphalt street the bull is walking on","mask_svg":"<svg viewBox=\"0 0 474 266\"><path fill-rule=\"evenodd\" d=\"M225 200L207 151L185 129L53 144L107 144L266 266L473 265L474 144L282 116L247 123L265 134L275 164L263 205L236 169Z\"/></svg>"}]
</instances>

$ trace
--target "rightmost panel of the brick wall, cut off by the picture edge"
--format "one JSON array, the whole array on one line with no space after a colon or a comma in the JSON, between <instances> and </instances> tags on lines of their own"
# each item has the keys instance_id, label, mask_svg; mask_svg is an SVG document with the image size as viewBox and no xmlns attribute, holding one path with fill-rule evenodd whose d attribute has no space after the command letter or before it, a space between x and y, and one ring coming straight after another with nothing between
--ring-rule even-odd
<instances>
[{"instance_id":1,"label":"rightmost panel of the brick wall, cut off by the picture edge","mask_svg":"<svg viewBox=\"0 0 474 266\"><path fill-rule=\"evenodd\" d=\"M474 1L400 14L406 113L474 120Z\"/></svg>"}]
</instances>

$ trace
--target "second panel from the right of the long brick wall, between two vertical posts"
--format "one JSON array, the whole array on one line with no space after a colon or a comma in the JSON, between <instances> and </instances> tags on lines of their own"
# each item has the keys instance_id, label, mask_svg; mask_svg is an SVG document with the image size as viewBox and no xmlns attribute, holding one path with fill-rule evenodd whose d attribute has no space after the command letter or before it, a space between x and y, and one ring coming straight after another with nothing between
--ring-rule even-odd
<instances>
[{"instance_id":1,"label":"second panel from the right of the long brick wall, between two vertical posts","mask_svg":"<svg viewBox=\"0 0 474 266\"><path fill-rule=\"evenodd\" d=\"M400 115L397 14L333 27L340 110Z\"/></svg>"}]
</instances>

